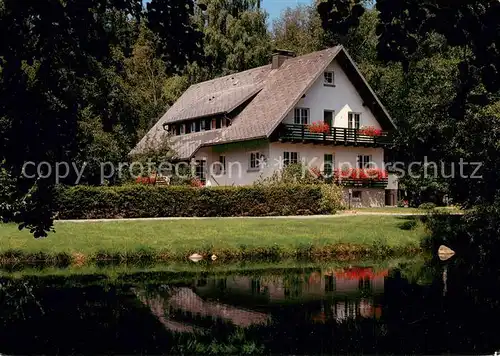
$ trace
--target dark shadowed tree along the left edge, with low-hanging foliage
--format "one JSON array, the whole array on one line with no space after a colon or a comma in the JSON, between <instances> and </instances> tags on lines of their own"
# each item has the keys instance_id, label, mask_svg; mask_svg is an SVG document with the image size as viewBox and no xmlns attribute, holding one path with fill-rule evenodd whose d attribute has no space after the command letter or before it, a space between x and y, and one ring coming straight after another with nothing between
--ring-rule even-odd
<instances>
[{"instance_id":1,"label":"dark shadowed tree along the left edge, with low-hanging foliage","mask_svg":"<svg viewBox=\"0 0 500 356\"><path fill-rule=\"evenodd\" d=\"M122 19L136 18L140 2L5 0L2 5L0 160L10 183L0 188L1 216L38 237L52 223L49 170L56 162L72 162L82 148L81 109L99 112L104 127L119 122L114 114L119 100L109 100L114 90L106 74L112 47L123 38L112 31L116 22L110 15L118 11ZM26 162L47 162L40 171L46 178L24 175Z\"/></svg>"}]
</instances>

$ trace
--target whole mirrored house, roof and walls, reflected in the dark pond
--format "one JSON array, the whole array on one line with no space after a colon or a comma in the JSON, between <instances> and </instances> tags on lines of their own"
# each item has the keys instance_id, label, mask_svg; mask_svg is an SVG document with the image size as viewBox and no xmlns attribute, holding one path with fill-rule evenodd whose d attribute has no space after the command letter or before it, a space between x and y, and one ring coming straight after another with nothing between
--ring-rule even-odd
<instances>
[{"instance_id":1,"label":"whole mirrored house, roof and walls, reflected in the dark pond","mask_svg":"<svg viewBox=\"0 0 500 356\"><path fill-rule=\"evenodd\" d=\"M371 268L300 271L285 275L206 277L139 299L172 331L193 332L215 322L267 324L277 309L314 322L378 318L387 271ZM282 313L279 313L282 315Z\"/></svg>"}]
</instances>

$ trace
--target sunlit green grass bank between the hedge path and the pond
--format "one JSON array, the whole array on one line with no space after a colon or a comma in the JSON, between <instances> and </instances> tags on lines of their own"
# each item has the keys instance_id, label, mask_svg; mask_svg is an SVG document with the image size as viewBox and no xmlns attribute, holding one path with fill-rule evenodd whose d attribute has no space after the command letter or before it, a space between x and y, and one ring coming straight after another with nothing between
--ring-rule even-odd
<instances>
[{"instance_id":1,"label":"sunlit green grass bank between the hedge path and the pond","mask_svg":"<svg viewBox=\"0 0 500 356\"><path fill-rule=\"evenodd\" d=\"M55 229L36 240L0 225L0 263L173 261L192 253L218 260L378 258L419 252L426 235L418 218L396 216L56 222Z\"/></svg>"}]
</instances>

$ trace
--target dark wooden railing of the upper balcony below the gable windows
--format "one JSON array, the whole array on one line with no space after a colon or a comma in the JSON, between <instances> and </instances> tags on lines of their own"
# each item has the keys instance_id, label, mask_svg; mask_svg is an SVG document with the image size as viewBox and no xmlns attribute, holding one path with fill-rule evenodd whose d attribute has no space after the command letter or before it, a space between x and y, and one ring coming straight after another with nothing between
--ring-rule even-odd
<instances>
[{"instance_id":1,"label":"dark wooden railing of the upper balcony below the gable windows","mask_svg":"<svg viewBox=\"0 0 500 356\"><path fill-rule=\"evenodd\" d=\"M281 124L278 131L280 141L323 142L325 144L344 144L346 146L386 146L392 143L388 131L381 131L380 135L371 136L359 133L359 129L345 127L331 127L328 132L310 132L307 125Z\"/></svg>"}]
</instances>

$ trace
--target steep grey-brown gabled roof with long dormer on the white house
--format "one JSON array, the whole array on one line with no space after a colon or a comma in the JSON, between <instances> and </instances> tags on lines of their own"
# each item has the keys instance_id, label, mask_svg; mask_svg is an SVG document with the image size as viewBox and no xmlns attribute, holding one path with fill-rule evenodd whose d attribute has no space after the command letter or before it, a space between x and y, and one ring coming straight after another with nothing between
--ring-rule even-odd
<instances>
[{"instance_id":1,"label":"steep grey-brown gabled roof with long dormer on the white house","mask_svg":"<svg viewBox=\"0 0 500 356\"><path fill-rule=\"evenodd\" d=\"M288 59L275 70L268 65L191 86L131 153L141 151L147 144L166 139L163 129L166 123L230 113L252 96L255 97L232 120L231 126L174 136L171 138L172 148L177 151L178 158L186 159L202 146L267 138L334 59L382 128L394 128L389 113L352 58L342 46L336 46Z\"/></svg>"}]
</instances>

